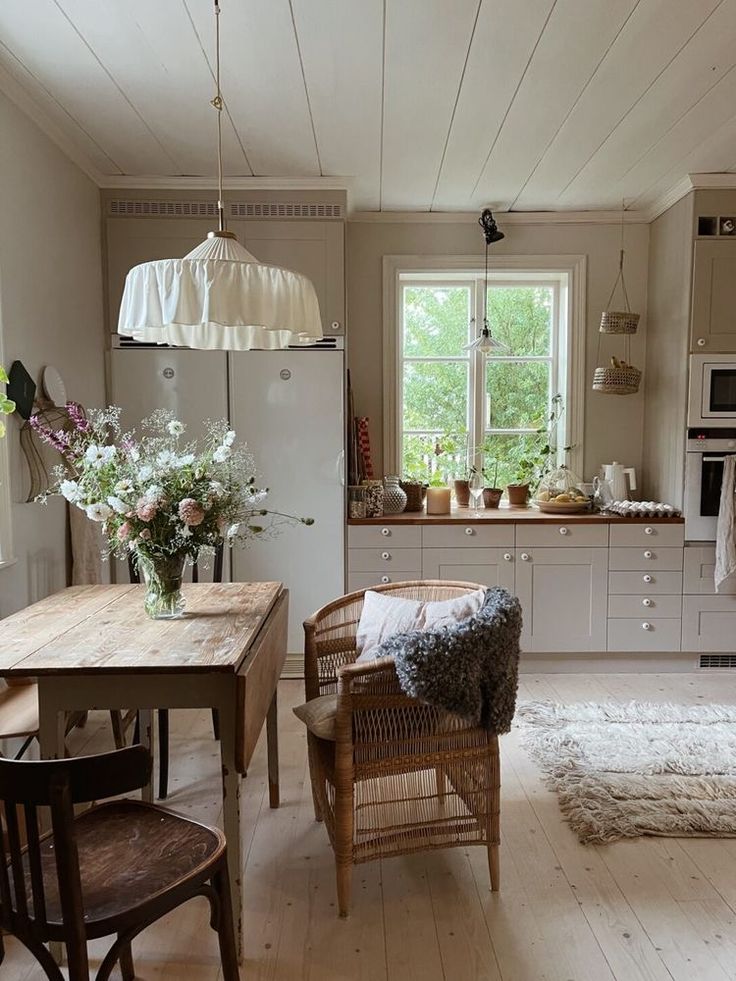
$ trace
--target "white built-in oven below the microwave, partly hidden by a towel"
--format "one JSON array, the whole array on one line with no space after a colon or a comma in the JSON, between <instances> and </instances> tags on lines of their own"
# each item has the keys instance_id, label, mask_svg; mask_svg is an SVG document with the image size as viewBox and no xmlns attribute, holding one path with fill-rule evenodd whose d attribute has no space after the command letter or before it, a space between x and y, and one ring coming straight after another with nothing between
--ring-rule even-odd
<instances>
[{"instance_id":1,"label":"white built-in oven below the microwave, partly hidden by a towel","mask_svg":"<svg viewBox=\"0 0 736 981\"><path fill-rule=\"evenodd\" d=\"M736 427L691 427L685 457L685 538L714 542L721 503L723 461L736 454Z\"/></svg>"}]
</instances>

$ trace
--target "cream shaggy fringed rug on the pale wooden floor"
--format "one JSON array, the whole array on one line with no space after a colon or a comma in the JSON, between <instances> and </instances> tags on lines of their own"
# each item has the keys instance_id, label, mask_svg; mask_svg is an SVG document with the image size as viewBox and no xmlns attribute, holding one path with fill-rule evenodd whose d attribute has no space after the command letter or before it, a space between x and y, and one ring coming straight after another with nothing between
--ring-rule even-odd
<instances>
[{"instance_id":1,"label":"cream shaggy fringed rug on the pale wooden floor","mask_svg":"<svg viewBox=\"0 0 736 981\"><path fill-rule=\"evenodd\" d=\"M527 702L516 722L581 841L736 837L736 705Z\"/></svg>"}]
</instances>

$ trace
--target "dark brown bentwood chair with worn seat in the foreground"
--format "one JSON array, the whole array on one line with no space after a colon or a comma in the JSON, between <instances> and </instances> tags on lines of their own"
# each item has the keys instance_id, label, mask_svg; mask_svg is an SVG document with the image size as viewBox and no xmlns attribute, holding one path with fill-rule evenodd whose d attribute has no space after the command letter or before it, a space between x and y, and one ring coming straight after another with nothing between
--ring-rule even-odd
<instances>
[{"instance_id":1,"label":"dark brown bentwood chair with worn seat in the foreground","mask_svg":"<svg viewBox=\"0 0 736 981\"><path fill-rule=\"evenodd\" d=\"M96 981L107 981L117 963L123 981L133 981L131 941L194 896L209 900L224 981L238 981L222 832L138 800L74 815L75 804L139 789L150 770L143 746L71 760L0 760L6 830L0 841L0 926L51 981L64 981L64 975L44 944L64 943L70 981L89 981L87 941L110 935L116 939ZM52 831L43 835L41 807L51 810ZM0 936L0 963L3 956Z\"/></svg>"}]
</instances>

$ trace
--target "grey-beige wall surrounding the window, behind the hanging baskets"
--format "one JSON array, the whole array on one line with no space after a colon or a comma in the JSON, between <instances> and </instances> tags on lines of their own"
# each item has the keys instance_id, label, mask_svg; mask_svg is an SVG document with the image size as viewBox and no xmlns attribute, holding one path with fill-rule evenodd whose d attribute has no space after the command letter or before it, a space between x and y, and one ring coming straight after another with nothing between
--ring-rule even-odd
<instances>
[{"instance_id":1,"label":"grey-beige wall surrounding the window, behind the hanging baskets","mask_svg":"<svg viewBox=\"0 0 736 981\"><path fill-rule=\"evenodd\" d=\"M587 345L585 377L584 469L594 474L602 463L618 460L639 468L642 462L644 395L601 395L592 391L601 311L618 270L620 225L498 224L506 238L493 246L494 255L586 255ZM633 310L642 315L632 339L631 358L644 367L646 341L649 227L626 226L626 284ZM384 255L481 255L483 237L471 222L348 222L347 299L348 366L355 393L355 411L370 417L373 458L382 466L382 260ZM617 294L620 302L620 293ZM622 342L620 342L622 344ZM605 342L604 354L622 350Z\"/></svg>"}]
</instances>

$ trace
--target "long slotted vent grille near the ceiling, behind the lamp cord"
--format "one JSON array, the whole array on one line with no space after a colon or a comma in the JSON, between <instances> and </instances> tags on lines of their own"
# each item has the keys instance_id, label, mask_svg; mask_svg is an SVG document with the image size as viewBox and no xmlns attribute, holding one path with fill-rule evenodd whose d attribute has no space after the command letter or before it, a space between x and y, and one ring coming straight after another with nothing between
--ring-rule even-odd
<instances>
[{"instance_id":1,"label":"long slotted vent grille near the ceiling, behind the lamp cord","mask_svg":"<svg viewBox=\"0 0 736 981\"><path fill-rule=\"evenodd\" d=\"M114 198L107 202L111 218L217 218L214 201L144 201ZM339 219L343 206L326 201L231 201L230 218Z\"/></svg>"}]
</instances>

